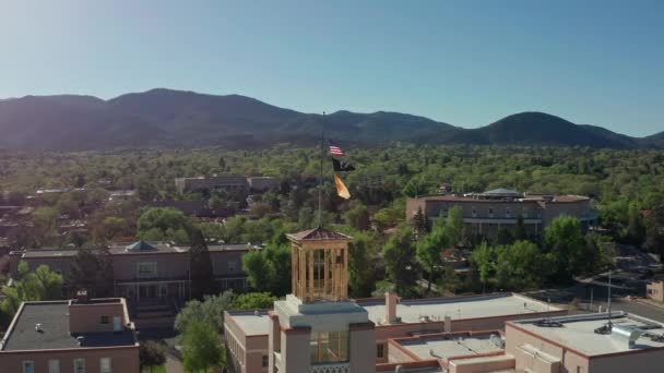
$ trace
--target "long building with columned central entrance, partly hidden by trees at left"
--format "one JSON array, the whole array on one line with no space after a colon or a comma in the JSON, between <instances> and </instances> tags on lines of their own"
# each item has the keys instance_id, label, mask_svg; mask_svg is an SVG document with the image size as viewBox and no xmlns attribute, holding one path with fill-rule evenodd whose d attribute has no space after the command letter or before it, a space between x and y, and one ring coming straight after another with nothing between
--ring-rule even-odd
<instances>
[{"instance_id":1,"label":"long building with columned central entrance, partly hidden by trees at left","mask_svg":"<svg viewBox=\"0 0 664 373\"><path fill-rule=\"evenodd\" d=\"M210 245L210 258L220 290L242 291L247 287L242 255L259 250L246 244ZM139 241L108 249L112 261L116 297L132 303L155 303L189 299L189 246ZM10 253L10 272L16 278L19 263L31 270L39 265L61 274L67 281L76 250L27 250Z\"/></svg>"}]
</instances>

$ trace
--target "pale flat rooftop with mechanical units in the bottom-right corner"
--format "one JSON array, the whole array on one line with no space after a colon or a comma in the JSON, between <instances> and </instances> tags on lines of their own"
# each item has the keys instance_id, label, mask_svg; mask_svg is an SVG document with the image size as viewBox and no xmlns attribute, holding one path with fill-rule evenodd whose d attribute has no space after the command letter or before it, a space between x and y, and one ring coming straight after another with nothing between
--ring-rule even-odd
<instances>
[{"instance_id":1,"label":"pale flat rooftop with mechanical units in the bottom-right corner","mask_svg":"<svg viewBox=\"0 0 664 373\"><path fill-rule=\"evenodd\" d=\"M525 329L589 357L664 348L664 340L655 341L651 338L664 335L664 324L625 312L612 312L612 323L614 327L636 327L643 332L643 335L636 340L632 348L628 346L626 339L620 338L615 328L612 334L596 334L594 332L596 328L606 325L606 313L552 317L548 320L559 323L559 326L540 326L537 322L541 318L509 322L508 325L514 325L517 328Z\"/></svg>"}]
</instances>

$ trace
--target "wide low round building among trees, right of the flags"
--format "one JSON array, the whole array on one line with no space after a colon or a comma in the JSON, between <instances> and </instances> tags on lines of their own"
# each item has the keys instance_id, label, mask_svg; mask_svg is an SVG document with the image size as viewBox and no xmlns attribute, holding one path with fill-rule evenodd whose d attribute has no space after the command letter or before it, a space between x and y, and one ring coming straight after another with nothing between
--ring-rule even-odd
<instances>
[{"instance_id":1,"label":"wide low round building among trees, right of the flags","mask_svg":"<svg viewBox=\"0 0 664 373\"><path fill-rule=\"evenodd\" d=\"M469 236L495 238L498 230L513 230L519 216L526 233L541 237L544 229L558 216L572 216L588 230L597 216L591 210L590 198L581 195L545 195L520 193L511 189L496 189L484 193L430 194L406 200L406 219L422 210L427 225L440 216L447 218L453 207L461 207Z\"/></svg>"}]
</instances>

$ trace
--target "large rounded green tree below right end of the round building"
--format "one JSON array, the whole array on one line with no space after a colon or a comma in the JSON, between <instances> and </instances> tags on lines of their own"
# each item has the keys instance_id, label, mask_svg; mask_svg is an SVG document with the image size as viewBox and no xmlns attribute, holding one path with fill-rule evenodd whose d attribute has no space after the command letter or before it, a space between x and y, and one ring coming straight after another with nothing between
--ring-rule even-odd
<instances>
[{"instance_id":1,"label":"large rounded green tree below right end of the round building","mask_svg":"<svg viewBox=\"0 0 664 373\"><path fill-rule=\"evenodd\" d=\"M556 279L568 280L583 269L582 253L585 241L577 218L555 218L544 230L544 244L546 251L556 258Z\"/></svg>"}]
</instances>

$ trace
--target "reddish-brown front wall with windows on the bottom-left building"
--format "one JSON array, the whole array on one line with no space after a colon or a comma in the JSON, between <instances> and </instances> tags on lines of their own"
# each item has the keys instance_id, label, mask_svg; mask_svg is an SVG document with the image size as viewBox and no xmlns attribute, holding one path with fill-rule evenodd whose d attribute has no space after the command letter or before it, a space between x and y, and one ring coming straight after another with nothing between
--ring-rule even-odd
<instances>
[{"instance_id":1,"label":"reddish-brown front wall with windows on the bottom-left building","mask_svg":"<svg viewBox=\"0 0 664 373\"><path fill-rule=\"evenodd\" d=\"M35 373L48 373L48 360L60 360L60 372L73 372L73 360L85 359L85 372L99 372L99 359L110 358L114 372L139 373L139 347L107 349L0 352L0 372L23 372L22 362L35 362Z\"/></svg>"}]
</instances>

